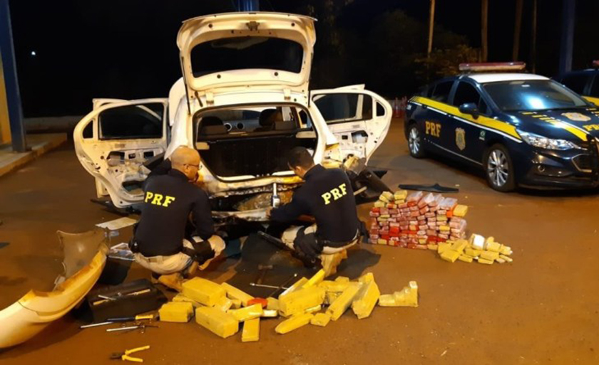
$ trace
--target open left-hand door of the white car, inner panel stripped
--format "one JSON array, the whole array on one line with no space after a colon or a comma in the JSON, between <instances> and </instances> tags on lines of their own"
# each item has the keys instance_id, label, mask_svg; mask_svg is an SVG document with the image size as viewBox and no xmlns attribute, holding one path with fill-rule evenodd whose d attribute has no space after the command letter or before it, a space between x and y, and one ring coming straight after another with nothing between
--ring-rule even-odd
<instances>
[{"instance_id":1,"label":"open left-hand door of the white car, inner panel stripped","mask_svg":"<svg viewBox=\"0 0 599 365\"><path fill-rule=\"evenodd\" d=\"M165 98L110 102L78 122L75 151L96 178L98 198L108 194L117 208L143 199L141 184L149 173L143 163L168 144L167 105Z\"/></svg>"}]
</instances>

